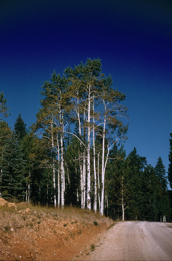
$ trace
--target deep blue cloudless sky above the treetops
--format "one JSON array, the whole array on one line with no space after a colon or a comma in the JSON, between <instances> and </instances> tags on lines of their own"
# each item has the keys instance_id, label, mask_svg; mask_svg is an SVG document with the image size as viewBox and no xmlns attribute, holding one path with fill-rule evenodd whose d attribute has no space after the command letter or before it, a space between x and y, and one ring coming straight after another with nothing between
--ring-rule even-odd
<instances>
[{"instance_id":1,"label":"deep blue cloudless sky above the treetops","mask_svg":"<svg viewBox=\"0 0 172 261\"><path fill-rule=\"evenodd\" d=\"M114 88L126 94L134 146L168 170L172 132L172 1L1 1L0 92L9 126L36 120L41 85L87 58L102 59Z\"/></svg>"}]
</instances>

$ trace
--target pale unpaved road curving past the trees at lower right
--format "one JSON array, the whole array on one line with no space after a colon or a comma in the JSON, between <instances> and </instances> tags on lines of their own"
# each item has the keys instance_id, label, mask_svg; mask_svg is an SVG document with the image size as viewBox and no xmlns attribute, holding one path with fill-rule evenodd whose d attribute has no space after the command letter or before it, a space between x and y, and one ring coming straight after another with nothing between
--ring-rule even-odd
<instances>
[{"instance_id":1,"label":"pale unpaved road curving past the trees at lower right","mask_svg":"<svg viewBox=\"0 0 172 261\"><path fill-rule=\"evenodd\" d=\"M172 260L172 223L118 222L75 260Z\"/></svg>"}]
</instances>

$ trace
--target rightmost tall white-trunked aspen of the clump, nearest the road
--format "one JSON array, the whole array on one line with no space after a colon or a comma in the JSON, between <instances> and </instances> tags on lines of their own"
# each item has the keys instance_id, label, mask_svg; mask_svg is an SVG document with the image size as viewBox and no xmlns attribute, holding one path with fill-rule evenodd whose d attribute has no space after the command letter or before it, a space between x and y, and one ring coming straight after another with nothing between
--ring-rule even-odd
<instances>
[{"instance_id":1,"label":"rightmost tall white-trunked aspen of the clump, nearest the road","mask_svg":"<svg viewBox=\"0 0 172 261\"><path fill-rule=\"evenodd\" d=\"M127 108L121 102L125 99L125 94L118 90L113 90L111 76L102 79L102 105L104 110L101 113L99 125L103 125L102 131L102 191L101 191L101 208L100 215L104 211L104 180L105 170L108 161L109 151L114 144L126 139L128 125L124 125L120 117L127 117ZM105 136L107 139L105 155Z\"/></svg>"}]
</instances>

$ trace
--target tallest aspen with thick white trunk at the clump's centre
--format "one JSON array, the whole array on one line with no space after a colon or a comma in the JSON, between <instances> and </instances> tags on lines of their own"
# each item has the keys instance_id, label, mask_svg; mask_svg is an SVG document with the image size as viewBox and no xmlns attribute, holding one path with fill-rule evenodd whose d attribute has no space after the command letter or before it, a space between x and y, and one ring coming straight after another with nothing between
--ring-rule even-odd
<instances>
[{"instance_id":1,"label":"tallest aspen with thick white trunk at the clump's centre","mask_svg":"<svg viewBox=\"0 0 172 261\"><path fill-rule=\"evenodd\" d=\"M93 104L93 97L95 96L95 91L99 90L99 77L101 72L101 61L99 59L87 59L86 64L84 65L82 62L75 66L74 70L71 67L66 68L65 73L70 81L70 86L73 89L73 97L75 97L75 111L77 113L78 121L79 119L79 111L77 109L77 104L79 104L76 99L76 89L80 91L80 99L81 104L83 104L82 108L85 107L83 111L83 120L85 120L85 126L87 130L86 135L86 143L84 144L86 149L86 160L87 160L87 208L91 209L91 191L90 191L90 146L91 146L91 131L92 131L92 115L91 115L91 106ZM84 106L86 105L86 106ZM80 125L79 125L80 126ZM83 126L84 133L84 126ZM81 137L78 137L81 140ZM83 153L83 168L82 172L85 172L85 153ZM81 169L81 168L80 168ZM82 177L82 174L81 174ZM81 186L83 186L84 190L84 180L81 182ZM82 191L82 188L81 188ZM84 195L83 200L84 204Z\"/></svg>"}]
</instances>

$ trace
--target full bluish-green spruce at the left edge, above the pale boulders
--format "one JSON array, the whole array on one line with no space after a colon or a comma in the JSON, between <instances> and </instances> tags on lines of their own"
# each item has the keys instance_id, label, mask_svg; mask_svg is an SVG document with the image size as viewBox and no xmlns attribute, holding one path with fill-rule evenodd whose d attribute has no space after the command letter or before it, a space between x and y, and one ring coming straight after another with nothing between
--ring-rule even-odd
<instances>
[{"instance_id":1,"label":"full bluish-green spruce at the left edge, above the pale boulders","mask_svg":"<svg viewBox=\"0 0 172 261\"><path fill-rule=\"evenodd\" d=\"M2 169L2 197L15 197L20 200L25 193L23 191L25 161L22 148L14 133L6 139L0 167Z\"/></svg>"}]
</instances>

